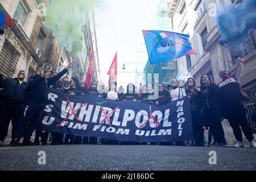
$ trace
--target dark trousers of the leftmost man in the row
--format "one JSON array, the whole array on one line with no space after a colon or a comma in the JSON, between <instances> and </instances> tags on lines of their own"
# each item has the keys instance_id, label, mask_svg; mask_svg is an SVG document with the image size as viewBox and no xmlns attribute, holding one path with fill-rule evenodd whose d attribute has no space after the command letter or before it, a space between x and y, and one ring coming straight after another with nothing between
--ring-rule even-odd
<instances>
[{"instance_id":1,"label":"dark trousers of the leftmost man in the row","mask_svg":"<svg viewBox=\"0 0 256 182\"><path fill-rule=\"evenodd\" d=\"M13 125L11 134L14 134L20 119L22 118L24 105L18 103L2 102L0 103L0 140L3 141L7 134L8 128Z\"/></svg>"}]
</instances>

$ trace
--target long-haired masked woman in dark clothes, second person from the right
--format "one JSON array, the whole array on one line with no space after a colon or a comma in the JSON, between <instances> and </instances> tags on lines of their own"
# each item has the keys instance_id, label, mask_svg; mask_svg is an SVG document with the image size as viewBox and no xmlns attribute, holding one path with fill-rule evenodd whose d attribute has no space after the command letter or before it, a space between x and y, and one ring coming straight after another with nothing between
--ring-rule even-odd
<instances>
[{"instance_id":1,"label":"long-haired masked woman in dark clothes, second person from the right","mask_svg":"<svg viewBox=\"0 0 256 182\"><path fill-rule=\"evenodd\" d=\"M221 125L222 108L220 90L218 90L217 85L210 81L207 75L201 76L200 84L204 95L203 110L205 127L210 127L210 131L212 131L215 142L214 144L211 144L210 147L227 147L224 130Z\"/></svg>"}]
</instances>

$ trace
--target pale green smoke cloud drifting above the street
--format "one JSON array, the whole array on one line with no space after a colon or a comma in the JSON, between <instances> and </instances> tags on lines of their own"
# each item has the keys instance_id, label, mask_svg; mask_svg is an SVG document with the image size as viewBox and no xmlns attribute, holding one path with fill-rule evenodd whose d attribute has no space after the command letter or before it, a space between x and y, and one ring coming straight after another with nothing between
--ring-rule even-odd
<instances>
[{"instance_id":1,"label":"pale green smoke cloud drifting above the street","mask_svg":"<svg viewBox=\"0 0 256 182\"><path fill-rule=\"evenodd\" d=\"M47 4L45 26L51 28L62 44L67 44L76 55L84 49L86 16L100 0L51 0Z\"/></svg>"}]
</instances>

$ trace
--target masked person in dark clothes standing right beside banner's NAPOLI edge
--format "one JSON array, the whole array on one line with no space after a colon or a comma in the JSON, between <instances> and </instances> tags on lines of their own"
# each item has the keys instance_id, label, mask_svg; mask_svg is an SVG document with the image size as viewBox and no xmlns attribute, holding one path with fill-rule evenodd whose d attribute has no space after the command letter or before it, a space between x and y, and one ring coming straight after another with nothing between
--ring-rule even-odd
<instances>
[{"instance_id":1,"label":"masked person in dark clothes standing right beside banner's NAPOLI edge","mask_svg":"<svg viewBox=\"0 0 256 182\"><path fill-rule=\"evenodd\" d=\"M188 88L185 90L190 99L191 117L195 146L204 146L203 129L203 94L199 86L196 86L194 78L188 78Z\"/></svg>"}]
</instances>

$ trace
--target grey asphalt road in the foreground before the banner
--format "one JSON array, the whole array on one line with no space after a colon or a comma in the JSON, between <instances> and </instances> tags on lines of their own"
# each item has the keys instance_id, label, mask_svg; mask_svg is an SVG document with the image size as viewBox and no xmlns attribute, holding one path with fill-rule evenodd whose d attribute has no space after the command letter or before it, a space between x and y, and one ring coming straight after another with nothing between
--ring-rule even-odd
<instances>
[{"instance_id":1,"label":"grey asphalt road in the foreground before the banner","mask_svg":"<svg viewBox=\"0 0 256 182\"><path fill-rule=\"evenodd\" d=\"M38 152L46 152L39 165ZM210 151L217 164L209 164ZM0 170L256 170L256 148L147 145L1 147Z\"/></svg>"}]
</instances>

